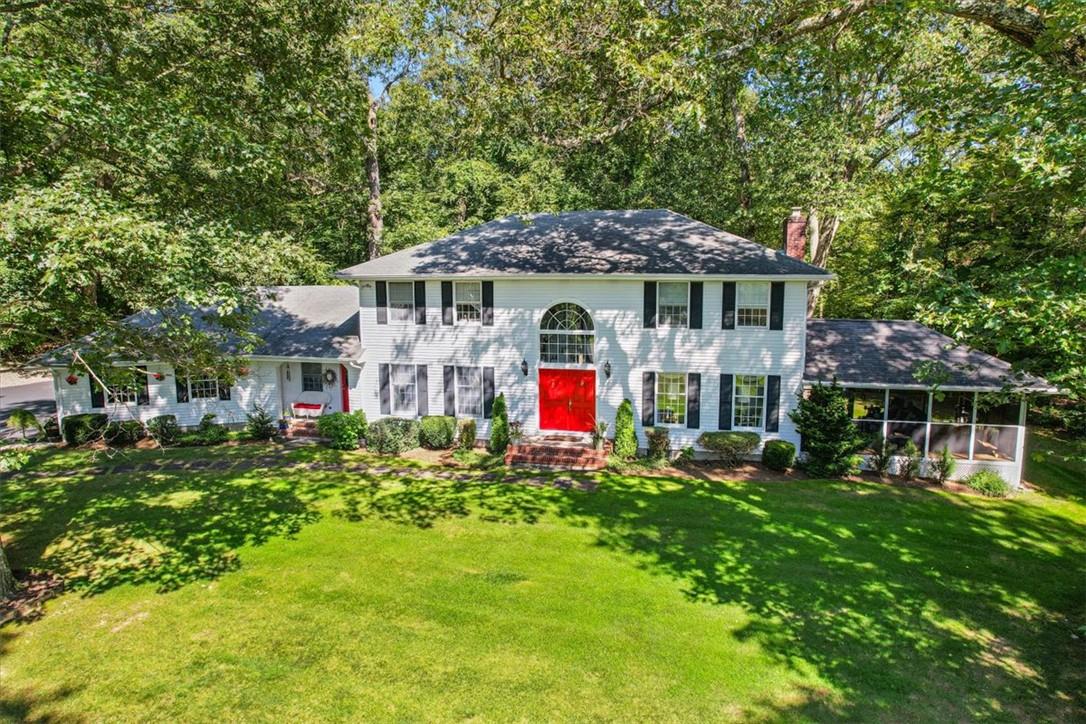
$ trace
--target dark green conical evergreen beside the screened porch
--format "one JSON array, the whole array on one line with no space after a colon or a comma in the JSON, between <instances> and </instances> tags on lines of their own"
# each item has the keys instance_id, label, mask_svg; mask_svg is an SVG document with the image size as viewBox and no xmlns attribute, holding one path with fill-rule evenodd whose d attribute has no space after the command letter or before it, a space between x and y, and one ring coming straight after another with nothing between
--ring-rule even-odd
<instances>
[{"instance_id":1,"label":"dark green conical evergreen beside the screened porch","mask_svg":"<svg viewBox=\"0 0 1086 724\"><path fill-rule=\"evenodd\" d=\"M836 380L829 386L819 383L811 388L788 417L803 436L810 474L836 478L856 469L856 454L867 441L853 423L845 391Z\"/></svg>"}]
</instances>

